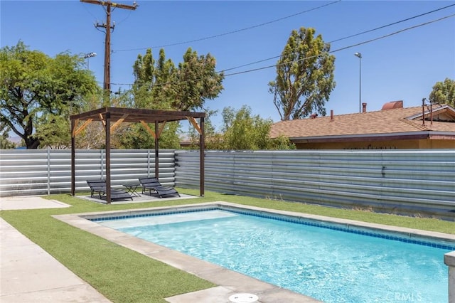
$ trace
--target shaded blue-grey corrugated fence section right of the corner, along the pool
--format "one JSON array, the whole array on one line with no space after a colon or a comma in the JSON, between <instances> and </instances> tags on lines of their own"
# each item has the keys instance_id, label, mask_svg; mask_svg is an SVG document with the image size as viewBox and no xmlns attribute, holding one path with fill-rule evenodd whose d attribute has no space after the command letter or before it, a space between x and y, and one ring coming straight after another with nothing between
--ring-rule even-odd
<instances>
[{"instance_id":1,"label":"shaded blue-grey corrugated fence section right of the corner, along the pool","mask_svg":"<svg viewBox=\"0 0 455 303\"><path fill-rule=\"evenodd\" d=\"M176 151L178 186L197 188L198 159ZM453 219L455 151L207 151L205 188Z\"/></svg>"}]
</instances>

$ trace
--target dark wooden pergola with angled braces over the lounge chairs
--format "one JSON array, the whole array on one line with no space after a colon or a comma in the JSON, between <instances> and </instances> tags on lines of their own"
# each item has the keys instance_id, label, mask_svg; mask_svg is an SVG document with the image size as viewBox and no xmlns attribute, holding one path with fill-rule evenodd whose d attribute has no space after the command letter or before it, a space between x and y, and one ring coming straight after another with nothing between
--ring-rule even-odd
<instances>
[{"instance_id":1,"label":"dark wooden pergola with angled braces over the lounge chairs","mask_svg":"<svg viewBox=\"0 0 455 303\"><path fill-rule=\"evenodd\" d=\"M204 118L205 112L178 112L171 110L143 110L122 107L103 107L82 114L71 115L71 194L75 196L75 137L88 124L102 122L106 132L106 187L111 187L111 133L122 122L141 123L155 139L155 177L159 178L159 137L166 122L188 119L199 133L200 196L204 196ZM200 124L196 121L200 119ZM151 129L150 124L154 124ZM160 126L161 124L161 126ZM106 201L111 203L111 192L106 191Z\"/></svg>"}]
</instances>

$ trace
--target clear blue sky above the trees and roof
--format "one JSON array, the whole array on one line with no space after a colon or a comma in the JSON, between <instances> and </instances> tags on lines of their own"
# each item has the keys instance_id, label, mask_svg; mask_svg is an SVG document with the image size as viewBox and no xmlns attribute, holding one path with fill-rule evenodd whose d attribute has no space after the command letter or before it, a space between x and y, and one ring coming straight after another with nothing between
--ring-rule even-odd
<instances>
[{"instance_id":1,"label":"clear blue sky above the trees and roof","mask_svg":"<svg viewBox=\"0 0 455 303\"><path fill-rule=\"evenodd\" d=\"M127 0L114 2L133 4ZM200 55L213 55L216 69L225 70L280 55L291 31L301 26L315 28L316 34L331 42L441 9L455 1L137 0L137 3L136 11L112 11L115 21L111 38L112 90L129 89L134 81L132 65L146 48L153 48L157 58L164 46L166 57L178 64L191 47ZM319 6L323 7L317 9ZM15 46L21 40L31 49L50 56L64 51L95 52L97 56L88 61L89 68L102 86L105 33L93 26L106 19L102 6L80 1L1 0L0 14L1 47ZM368 111L380 110L385 102L395 100L403 100L405 107L421 105L435 83L455 79L455 16L419 26L454 14L455 6L451 6L331 43L331 50L345 49L333 53L337 84L326 103L327 113L333 110L335 115L341 115L359 110L360 62L355 52L363 56L361 96L362 102L368 103ZM412 29L402 31L406 28ZM402 32L392 34L397 31ZM212 36L217 37L208 38ZM355 46L359 43L362 44ZM276 62L277 58L266 60L226 74L264 68ZM211 110L219 110L213 119L215 124L220 126L224 107L240 109L242 105L249 105L255 115L278 122L280 117L267 86L275 75L275 68L228 75L220 96L205 103Z\"/></svg>"}]
</instances>

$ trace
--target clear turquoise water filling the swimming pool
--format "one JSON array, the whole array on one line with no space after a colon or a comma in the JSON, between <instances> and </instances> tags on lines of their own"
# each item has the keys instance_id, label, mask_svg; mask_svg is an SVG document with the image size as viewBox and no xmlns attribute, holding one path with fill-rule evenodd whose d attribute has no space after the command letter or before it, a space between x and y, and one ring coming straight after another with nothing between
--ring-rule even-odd
<instances>
[{"instance_id":1,"label":"clear turquoise water filling the swimming pool","mask_svg":"<svg viewBox=\"0 0 455 303\"><path fill-rule=\"evenodd\" d=\"M448 301L446 243L221 210L98 221L323 302Z\"/></svg>"}]
</instances>

